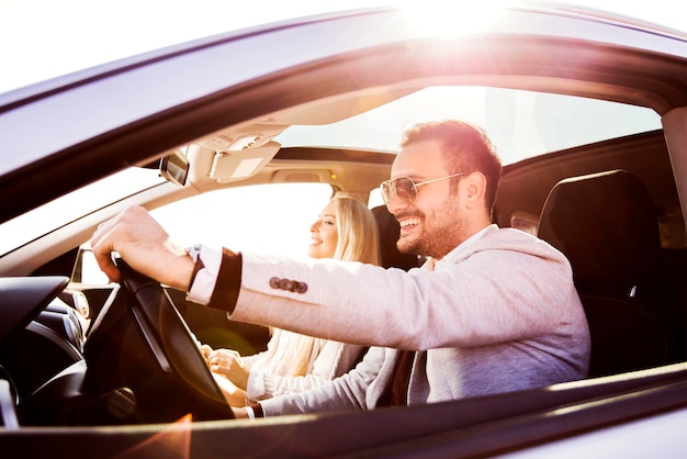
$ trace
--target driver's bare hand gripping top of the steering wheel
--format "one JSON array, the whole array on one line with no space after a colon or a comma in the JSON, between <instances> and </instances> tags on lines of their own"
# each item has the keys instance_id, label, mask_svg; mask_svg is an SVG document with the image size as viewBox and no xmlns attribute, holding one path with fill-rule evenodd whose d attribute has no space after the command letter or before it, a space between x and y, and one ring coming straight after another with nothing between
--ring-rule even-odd
<instances>
[{"instance_id":1,"label":"driver's bare hand gripping top of the steering wheel","mask_svg":"<svg viewBox=\"0 0 687 459\"><path fill-rule=\"evenodd\" d=\"M116 251L142 275L179 290L189 290L193 260L170 240L144 208L128 208L100 224L91 238L91 248L100 269L114 282L121 280L112 260L112 253Z\"/></svg>"}]
</instances>

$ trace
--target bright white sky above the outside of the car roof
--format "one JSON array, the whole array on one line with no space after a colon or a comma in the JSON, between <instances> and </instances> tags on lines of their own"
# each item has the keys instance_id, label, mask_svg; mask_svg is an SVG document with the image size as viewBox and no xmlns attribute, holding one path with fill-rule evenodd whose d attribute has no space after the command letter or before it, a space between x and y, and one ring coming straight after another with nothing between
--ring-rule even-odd
<instances>
[{"instance_id":1,"label":"bright white sky above the outside of the car roof","mask_svg":"<svg viewBox=\"0 0 687 459\"><path fill-rule=\"evenodd\" d=\"M418 2L430 5L432 0L0 0L0 93L229 30L325 10ZM484 4L484 0L455 4L458 11L466 4ZM568 4L687 30L682 3L675 0L582 0Z\"/></svg>"}]
</instances>

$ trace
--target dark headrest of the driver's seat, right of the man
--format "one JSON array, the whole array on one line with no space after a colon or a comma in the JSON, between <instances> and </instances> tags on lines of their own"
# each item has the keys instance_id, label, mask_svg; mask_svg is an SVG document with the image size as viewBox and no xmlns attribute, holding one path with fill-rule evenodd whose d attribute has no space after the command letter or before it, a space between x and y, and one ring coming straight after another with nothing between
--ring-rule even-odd
<instances>
[{"instance_id":1,"label":"dark headrest of the driver's seat, right of the man","mask_svg":"<svg viewBox=\"0 0 687 459\"><path fill-rule=\"evenodd\" d=\"M570 259L575 282L629 282L651 276L658 221L641 180L610 170L561 180L541 213L539 237Z\"/></svg>"}]
</instances>

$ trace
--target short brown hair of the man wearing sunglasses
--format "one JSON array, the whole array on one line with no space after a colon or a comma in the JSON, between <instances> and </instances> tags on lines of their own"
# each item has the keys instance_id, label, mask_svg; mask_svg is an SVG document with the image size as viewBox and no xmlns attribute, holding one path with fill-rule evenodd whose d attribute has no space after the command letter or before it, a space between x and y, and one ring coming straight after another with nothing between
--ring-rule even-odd
<instances>
[{"instance_id":1,"label":"short brown hair of the man wearing sunglasses","mask_svg":"<svg viewBox=\"0 0 687 459\"><path fill-rule=\"evenodd\" d=\"M401 146L424 141L441 142L449 173L480 171L486 177L485 203L491 213L500 183L502 165L496 148L484 131L458 120L418 123L404 133ZM460 179L451 179L452 192L458 189Z\"/></svg>"}]
</instances>

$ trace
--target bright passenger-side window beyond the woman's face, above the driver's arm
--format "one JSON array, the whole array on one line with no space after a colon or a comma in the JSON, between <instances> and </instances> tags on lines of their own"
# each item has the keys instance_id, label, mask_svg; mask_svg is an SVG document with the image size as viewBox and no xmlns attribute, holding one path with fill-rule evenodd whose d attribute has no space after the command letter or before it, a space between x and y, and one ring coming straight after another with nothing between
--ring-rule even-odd
<instances>
[{"instance_id":1,"label":"bright passenger-side window beyond the woman's face, above the driver's arm","mask_svg":"<svg viewBox=\"0 0 687 459\"><path fill-rule=\"evenodd\" d=\"M238 187L184 199L151 215L183 245L304 256L309 226L331 192L325 183Z\"/></svg>"}]
</instances>

